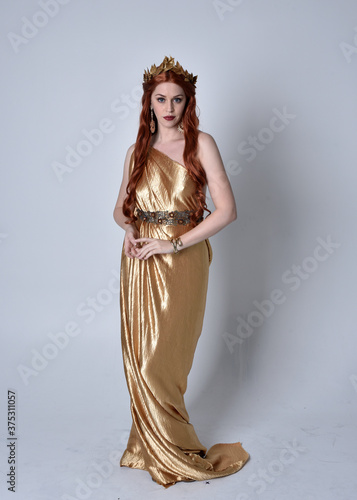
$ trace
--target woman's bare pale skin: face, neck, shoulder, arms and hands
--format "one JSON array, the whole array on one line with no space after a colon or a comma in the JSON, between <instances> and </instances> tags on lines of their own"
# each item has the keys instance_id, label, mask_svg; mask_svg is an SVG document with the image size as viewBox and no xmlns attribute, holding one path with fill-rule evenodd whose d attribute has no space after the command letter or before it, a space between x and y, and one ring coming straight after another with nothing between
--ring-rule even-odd
<instances>
[{"instance_id":1,"label":"woman's bare pale skin: face, neck, shoulder, arms and hands","mask_svg":"<svg viewBox=\"0 0 357 500\"><path fill-rule=\"evenodd\" d=\"M181 122L186 103L183 89L172 82L157 85L151 96L151 106L158 122L158 129L153 136L151 146L165 153L172 160L183 163L184 138L177 130ZM171 121L165 120L165 116L174 116ZM123 179L119 190L118 199L114 208L113 217L115 222L124 229L124 252L131 259L137 258L147 260L156 254L173 253L174 248L169 240L156 238L140 238L139 231L133 224L125 224L127 218L123 214L123 202L126 196L126 186L129 181L129 161L134 145L127 151ZM180 252L185 248L195 245L228 226L237 218L236 204L225 172L221 155L212 136L205 132L198 135L198 159L201 162L207 176L207 187L215 210L200 224L190 229L181 236L182 246L178 247ZM168 207L172 209L174 207Z\"/></svg>"}]
</instances>

